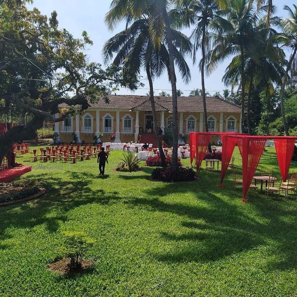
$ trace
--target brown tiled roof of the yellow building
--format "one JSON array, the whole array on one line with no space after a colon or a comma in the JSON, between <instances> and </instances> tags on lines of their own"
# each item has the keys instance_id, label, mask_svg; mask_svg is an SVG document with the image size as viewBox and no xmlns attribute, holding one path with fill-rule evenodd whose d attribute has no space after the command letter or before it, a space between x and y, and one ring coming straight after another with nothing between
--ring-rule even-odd
<instances>
[{"instance_id":1,"label":"brown tiled roof of the yellow building","mask_svg":"<svg viewBox=\"0 0 297 297\"><path fill-rule=\"evenodd\" d=\"M96 103L89 103L90 108L100 109L126 109L126 110L151 110L148 96L138 95L108 95L109 103L105 103L103 97L98 97ZM155 96L157 111L172 111L172 98ZM177 105L179 112L203 112L202 97L178 97ZM60 104L67 108L67 104ZM206 108L208 112L241 112L241 106L230 103L217 97L206 97Z\"/></svg>"}]
</instances>

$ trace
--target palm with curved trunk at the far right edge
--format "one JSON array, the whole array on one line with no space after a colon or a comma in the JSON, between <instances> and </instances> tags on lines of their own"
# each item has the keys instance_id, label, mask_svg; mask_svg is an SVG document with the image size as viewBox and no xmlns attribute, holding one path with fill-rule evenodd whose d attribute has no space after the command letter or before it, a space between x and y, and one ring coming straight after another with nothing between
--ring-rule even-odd
<instances>
[{"instance_id":1,"label":"palm with curved trunk at the far right edge","mask_svg":"<svg viewBox=\"0 0 297 297\"><path fill-rule=\"evenodd\" d=\"M286 10L289 13L289 18L282 19L280 21L280 25L284 33L286 45L290 47L292 50L289 62L286 67L286 72L282 80L282 88L281 88L282 121L284 123L284 128L287 136L289 136L290 134L287 127L286 118L285 118L284 93L285 93L285 87L288 80L288 73L297 52L297 6L295 4L293 4L293 6L294 6L294 10L291 10L291 8L287 5L284 6L284 10Z\"/></svg>"}]
</instances>

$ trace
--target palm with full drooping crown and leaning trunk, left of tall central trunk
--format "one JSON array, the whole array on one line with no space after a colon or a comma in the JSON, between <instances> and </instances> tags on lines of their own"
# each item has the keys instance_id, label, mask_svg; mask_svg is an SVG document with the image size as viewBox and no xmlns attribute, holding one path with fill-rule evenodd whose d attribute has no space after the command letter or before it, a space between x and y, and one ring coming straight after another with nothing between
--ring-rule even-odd
<instances>
[{"instance_id":1,"label":"palm with full drooping crown and leaning trunk, left of tall central trunk","mask_svg":"<svg viewBox=\"0 0 297 297\"><path fill-rule=\"evenodd\" d=\"M149 18L148 10L144 10L143 14L136 19L130 17L129 22L127 22L127 28L105 43L103 55L105 57L105 63L110 62L114 54L116 54L113 61L114 64L125 64L136 73L140 73L141 69L146 71L150 87L149 94L153 121L156 127L155 134L160 157L163 159L163 165L165 166L165 156L158 135L159 122L155 110L153 79L160 76L164 71L170 73L169 53L166 43L162 41L160 41L160 48L155 48L149 32ZM162 34L162 40L165 40L165 32L163 31ZM181 32L171 29L171 34L174 41L174 62L178 65L183 80L188 82L191 75L183 55L190 54L192 45L189 39ZM166 93L164 95L167 96L168 94Z\"/></svg>"}]
</instances>

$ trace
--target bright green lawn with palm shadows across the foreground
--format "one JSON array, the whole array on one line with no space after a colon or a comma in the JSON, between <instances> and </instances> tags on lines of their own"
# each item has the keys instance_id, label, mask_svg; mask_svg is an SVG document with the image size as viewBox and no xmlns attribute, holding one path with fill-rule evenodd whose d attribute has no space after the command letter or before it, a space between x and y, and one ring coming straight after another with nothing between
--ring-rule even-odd
<instances>
[{"instance_id":1,"label":"bright green lawn with palm shadows across the foreground","mask_svg":"<svg viewBox=\"0 0 297 297\"><path fill-rule=\"evenodd\" d=\"M279 176L268 150L259 168ZM149 167L114 171L121 154L112 151L104 177L91 159L20 178L47 193L0 209L1 296L296 296L295 199L250 191L250 203L241 203L231 171L223 188L219 173L204 170L196 182L151 182ZM235 156L239 175L237 148ZM65 230L96 239L86 255L97 260L93 269L63 276L46 269Z\"/></svg>"}]
</instances>

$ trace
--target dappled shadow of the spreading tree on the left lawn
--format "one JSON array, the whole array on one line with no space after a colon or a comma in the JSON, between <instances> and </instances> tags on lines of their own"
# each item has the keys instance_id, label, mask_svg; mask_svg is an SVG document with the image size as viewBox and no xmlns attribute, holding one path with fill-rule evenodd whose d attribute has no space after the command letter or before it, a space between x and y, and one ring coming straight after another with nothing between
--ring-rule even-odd
<instances>
[{"instance_id":1,"label":"dappled shadow of the spreading tree on the left lawn","mask_svg":"<svg viewBox=\"0 0 297 297\"><path fill-rule=\"evenodd\" d=\"M9 234L5 230L11 226L34 228L45 224L45 229L50 233L56 232L61 223L68 220L67 212L69 210L90 203L104 205L115 203L116 200L121 199L120 196L114 193L106 193L103 189L94 191L90 186L94 180L98 179L94 174L67 173L69 180L58 177L46 179L43 174L30 178L36 180L41 187L45 187L46 193L36 200L24 204L13 204L0 209L0 212L5 216L0 226L2 239L8 238ZM108 177L106 175L106 178ZM57 209L57 215L53 215L53 208ZM6 212L8 213L5 214Z\"/></svg>"}]
</instances>

